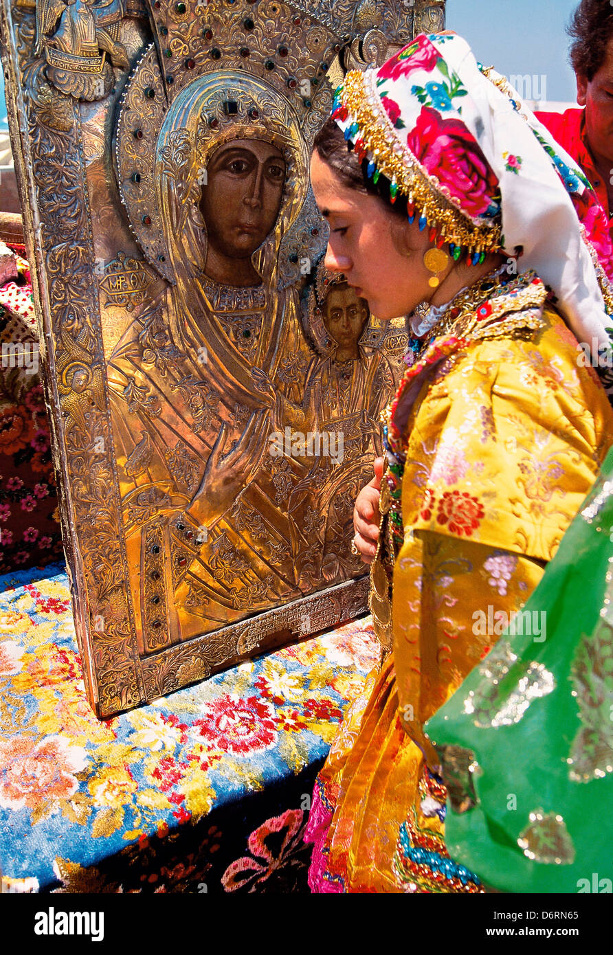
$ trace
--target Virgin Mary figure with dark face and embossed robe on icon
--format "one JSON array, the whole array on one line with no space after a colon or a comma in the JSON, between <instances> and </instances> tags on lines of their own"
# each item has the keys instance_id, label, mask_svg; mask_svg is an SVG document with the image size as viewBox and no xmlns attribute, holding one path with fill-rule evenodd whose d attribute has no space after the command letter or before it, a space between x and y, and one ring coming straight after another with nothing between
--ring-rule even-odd
<instances>
[{"instance_id":1,"label":"Virgin Mary figure with dark face and embossed robe on icon","mask_svg":"<svg viewBox=\"0 0 613 955\"><path fill-rule=\"evenodd\" d=\"M284 97L243 73L201 76L164 118L153 177L171 284L108 363L143 652L301 595L287 506L300 463L270 456L267 437L312 358L297 292L279 288L307 190Z\"/></svg>"}]
</instances>

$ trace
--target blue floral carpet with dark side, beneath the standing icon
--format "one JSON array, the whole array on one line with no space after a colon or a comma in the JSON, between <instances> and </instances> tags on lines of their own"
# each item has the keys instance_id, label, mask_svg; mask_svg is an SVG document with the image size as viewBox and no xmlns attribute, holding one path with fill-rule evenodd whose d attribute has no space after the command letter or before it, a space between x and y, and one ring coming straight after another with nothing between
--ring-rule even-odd
<instances>
[{"instance_id":1,"label":"blue floral carpet with dark side, beneath the standing icon","mask_svg":"<svg viewBox=\"0 0 613 955\"><path fill-rule=\"evenodd\" d=\"M365 618L98 720L63 562L1 577L2 889L306 892L314 778L377 661Z\"/></svg>"}]
</instances>

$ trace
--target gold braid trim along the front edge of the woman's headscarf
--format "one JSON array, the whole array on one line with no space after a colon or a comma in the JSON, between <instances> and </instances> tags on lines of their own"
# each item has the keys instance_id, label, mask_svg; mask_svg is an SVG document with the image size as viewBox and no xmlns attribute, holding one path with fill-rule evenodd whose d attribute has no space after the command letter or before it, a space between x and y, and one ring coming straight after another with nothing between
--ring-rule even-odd
<instances>
[{"instance_id":1,"label":"gold braid trim along the front edge of the woman's headscarf","mask_svg":"<svg viewBox=\"0 0 613 955\"><path fill-rule=\"evenodd\" d=\"M362 152L370 153L379 172L417 206L446 242L466 246L473 254L499 249L500 223L483 223L461 211L447 187L399 141L373 84L374 71L351 70L343 86L342 101L349 111L346 125L358 124L356 141L363 141Z\"/></svg>"}]
</instances>

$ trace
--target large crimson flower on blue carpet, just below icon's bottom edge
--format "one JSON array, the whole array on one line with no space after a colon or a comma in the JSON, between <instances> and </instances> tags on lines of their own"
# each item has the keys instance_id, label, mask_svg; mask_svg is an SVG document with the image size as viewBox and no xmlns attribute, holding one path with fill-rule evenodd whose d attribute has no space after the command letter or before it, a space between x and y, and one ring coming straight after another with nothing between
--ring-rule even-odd
<instances>
[{"instance_id":1,"label":"large crimson flower on blue carpet, just below icon's bottom edge","mask_svg":"<svg viewBox=\"0 0 613 955\"><path fill-rule=\"evenodd\" d=\"M275 709L258 696L246 700L224 693L201 705L202 719L195 720L198 734L226 753L246 756L269 750L277 742Z\"/></svg>"}]
</instances>

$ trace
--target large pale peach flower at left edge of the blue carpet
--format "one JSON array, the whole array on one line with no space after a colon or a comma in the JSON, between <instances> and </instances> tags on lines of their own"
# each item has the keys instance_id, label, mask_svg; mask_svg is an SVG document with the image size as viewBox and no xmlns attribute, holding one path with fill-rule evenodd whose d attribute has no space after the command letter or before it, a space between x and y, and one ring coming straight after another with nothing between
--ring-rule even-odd
<instances>
[{"instance_id":1,"label":"large pale peach flower at left edge of the blue carpet","mask_svg":"<svg viewBox=\"0 0 613 955\"><path fill-rule=\"evenodd\" d=\"M0 742L0 806L35 809L49 799L66 799L78 788L74 773L85 768L87 753L59 736L16 736Z\"/></svg>"}]
</instances>

